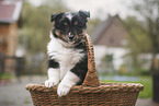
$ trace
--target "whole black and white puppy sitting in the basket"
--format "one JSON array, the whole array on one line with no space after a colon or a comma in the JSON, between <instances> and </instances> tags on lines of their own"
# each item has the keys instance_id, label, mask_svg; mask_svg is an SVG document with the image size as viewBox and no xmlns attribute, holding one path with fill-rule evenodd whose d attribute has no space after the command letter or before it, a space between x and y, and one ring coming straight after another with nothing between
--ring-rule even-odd
<instances>
[{"instance_id":1,"label":"whole black and white puppy sitting in the basket","mask_svg":"<svg viewBox=\"0 0 159 106\"><path fill-rule=\"evenodd\" d=\"M68 94L73 85L81 85L88 71L84 38L90 12L60 12L53 14L55 22L47 46L48 80L46 87L58 84L58 96Z\"/></svg>"}]
</instances>

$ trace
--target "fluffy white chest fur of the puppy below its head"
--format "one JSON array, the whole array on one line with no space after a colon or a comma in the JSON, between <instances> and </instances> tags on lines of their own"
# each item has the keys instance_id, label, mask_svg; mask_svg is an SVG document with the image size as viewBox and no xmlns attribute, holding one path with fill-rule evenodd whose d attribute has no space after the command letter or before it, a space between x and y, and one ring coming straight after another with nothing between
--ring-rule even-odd
<instances>
[{"instance_id":1,"label":"fluffy white chest fur of the puppy below its head","mask_svg":"<svg viewBox=\"0 0 159 106\"><path fill-rule=\"evenodd\" d=\"M60 67L60 80L67 71L73 68L77 62L83 58L83 54L79 54L80 49L66 48L59 39L54 38L50 34L50 42L47 46L47 54L52 59L56 59Z\"/></svg>"}]
</instances>

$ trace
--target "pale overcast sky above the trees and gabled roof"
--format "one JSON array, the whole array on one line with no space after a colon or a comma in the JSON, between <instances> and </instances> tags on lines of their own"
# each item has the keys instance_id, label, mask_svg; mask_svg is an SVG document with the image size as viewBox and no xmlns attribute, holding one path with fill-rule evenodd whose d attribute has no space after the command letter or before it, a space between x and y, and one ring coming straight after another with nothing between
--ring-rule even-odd
<instances>
[{"instance_id":1,"label":"pale overcast sky above the trees and gabled roof","mask_svg":"<svg viewBox=\"0 0 159 106\"><path fill-rule=\"evenodd\" d=\"M35 5L41 4L41 0L29 0ZM47 1L47 0L46 0ZM130 9L133 0L63 0L72 11L88 10L91 12L91 17L100 17L105 20L107 14L120 14L125 19L127 14L133 14Z\"/></svg>"}]
</instances>

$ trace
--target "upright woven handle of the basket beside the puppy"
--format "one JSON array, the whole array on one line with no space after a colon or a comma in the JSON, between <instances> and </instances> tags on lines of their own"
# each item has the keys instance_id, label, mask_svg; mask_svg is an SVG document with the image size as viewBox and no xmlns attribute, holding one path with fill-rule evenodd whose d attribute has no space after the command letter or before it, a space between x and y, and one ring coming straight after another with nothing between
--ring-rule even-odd
<instances>
[{"instance_id":1,"label":"upright woven handle of the basket beside the puppy","mask_svg":"<svg viewBox=\"0 0 159 106\"><path fill-rule=\"evenodd\" d=\"M95 71L94 52L91 38L88 34L83 34L88 51L88 72L82 86L100 86L99 78Z\"/></svg>"}]
</instances>

